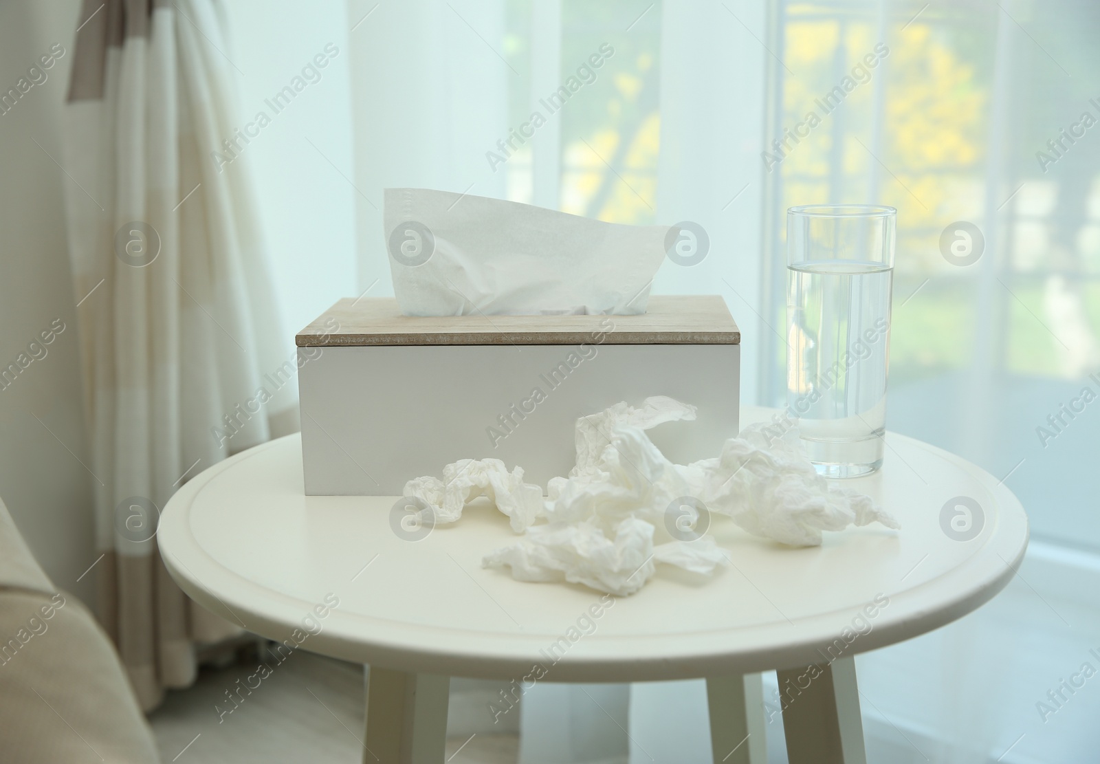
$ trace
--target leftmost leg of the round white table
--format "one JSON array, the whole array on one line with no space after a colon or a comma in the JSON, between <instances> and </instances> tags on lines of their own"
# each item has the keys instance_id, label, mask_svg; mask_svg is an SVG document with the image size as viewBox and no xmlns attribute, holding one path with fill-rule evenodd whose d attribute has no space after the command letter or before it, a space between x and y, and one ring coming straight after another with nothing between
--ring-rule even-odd
<instances>
[{"instance_id":1,"label":"leftmost leg of the round white table","mask_svg":"<svg viewBox=\"0 0 1100 764\"><path fill-rule=\"evenodd\" d=\"M371 666L364 764L440 764L451 678Z\"/></svg>"}]
</instances>

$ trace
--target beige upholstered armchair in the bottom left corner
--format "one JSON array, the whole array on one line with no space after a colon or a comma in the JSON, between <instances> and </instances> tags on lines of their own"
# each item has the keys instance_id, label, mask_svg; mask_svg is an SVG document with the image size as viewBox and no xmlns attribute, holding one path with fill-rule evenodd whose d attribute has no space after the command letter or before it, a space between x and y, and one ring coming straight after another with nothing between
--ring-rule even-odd
<instances>
[{"instance_id":1,"label":"beige upholstered armchair in the bottom left corner","mask_svg":"<svg viewBox=\"0 0 1100 764\"><path fill-rule=\"evenodd\" d=\"M161 761L107 634L50 581L2 501L0 761Z\"/></svg>"}]
</instances>

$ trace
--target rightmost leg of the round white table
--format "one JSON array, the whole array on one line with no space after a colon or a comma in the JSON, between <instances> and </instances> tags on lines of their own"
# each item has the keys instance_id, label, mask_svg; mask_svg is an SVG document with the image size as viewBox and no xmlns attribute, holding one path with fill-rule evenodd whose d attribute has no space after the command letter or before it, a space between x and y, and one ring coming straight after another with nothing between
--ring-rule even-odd
<instances>
[{"instance_id":1,"label":"rightmost leg of the round white table","mask_svg":"<svg viewBox=\"0 0 1100 764\"><path fill-rule=\"evenodd\" d=\"M867 764L855 659L777 674L791 764Z\"/></svg>"}]
</instances>

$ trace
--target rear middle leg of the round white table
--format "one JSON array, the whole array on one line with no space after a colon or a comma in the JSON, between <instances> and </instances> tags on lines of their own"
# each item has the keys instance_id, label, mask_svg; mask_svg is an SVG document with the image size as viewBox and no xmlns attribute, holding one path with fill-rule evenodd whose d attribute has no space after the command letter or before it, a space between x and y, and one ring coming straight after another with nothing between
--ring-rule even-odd
<instances>
[{"instance_id":1,"label":"rear middle leg of the round white table","mask_svg":"<svg viewBox=\"0 0 1100 764\"><path fill-rule=\"evenodd\" d=\"M767 764L761 676L707 677L706 702L715 764Z\"/></svg>"}]
</instances>

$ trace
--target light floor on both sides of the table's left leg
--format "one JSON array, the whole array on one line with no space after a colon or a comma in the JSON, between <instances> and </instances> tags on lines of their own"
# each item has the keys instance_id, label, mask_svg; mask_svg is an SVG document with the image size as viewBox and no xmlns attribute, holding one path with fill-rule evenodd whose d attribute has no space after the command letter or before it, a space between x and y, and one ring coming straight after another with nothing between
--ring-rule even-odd
<instances>
[{"instance_id":1,"label":"light floor on both sides of the table's left leg","mask_svg":"<svg viewBox=\"0 0 1100 764\"><path fill-rule=\"evenodd\" d=\"M256 657L205 667L193 687L168 694L150 717L165 764L362 761L362 666L298 651L266 661L264 676ZM514 764L518 747L514 734L451 738L447 762Z\"/></svg>"}]
</instances>

